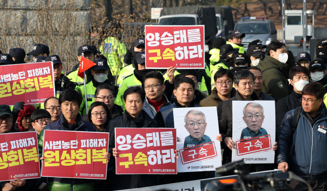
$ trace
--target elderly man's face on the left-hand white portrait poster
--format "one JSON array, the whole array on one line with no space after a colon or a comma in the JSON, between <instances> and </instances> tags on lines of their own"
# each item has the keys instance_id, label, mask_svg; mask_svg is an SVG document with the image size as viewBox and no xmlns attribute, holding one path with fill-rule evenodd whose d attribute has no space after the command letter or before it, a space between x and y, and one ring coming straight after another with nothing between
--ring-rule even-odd
<instances>
[{"instance_id":1,"label":"elderly man's face on the left-hand white portrait poster","mask_svg":"<svg viewBox=\"0 0 327 191\"><path fill-rule=\"evenodd\" d=\"M204 117L202 115L189 113L186 118L185 128L193 138L201 139L204 136L204 131L206 129Z\"/></svg>"}]
</instances>

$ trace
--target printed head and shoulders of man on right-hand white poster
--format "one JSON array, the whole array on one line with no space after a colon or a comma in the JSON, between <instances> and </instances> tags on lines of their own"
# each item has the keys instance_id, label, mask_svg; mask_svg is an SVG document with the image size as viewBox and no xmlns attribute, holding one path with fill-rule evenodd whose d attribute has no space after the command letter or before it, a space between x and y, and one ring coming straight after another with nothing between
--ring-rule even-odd
<instances>
[{"instance_id":1,"label":"printed head and shoulders of man on right-hand white poster","mask_svg":"<svg viewBox=\"0 0 327 191\"><path fill-rule=\"evenodd\" d=\"M243 109L243 115L247 127L242 130L241 139L268 135L266 129L261 127L265 119L264 107L261 104L249 102Z\"/></svg>"}]
</instances>

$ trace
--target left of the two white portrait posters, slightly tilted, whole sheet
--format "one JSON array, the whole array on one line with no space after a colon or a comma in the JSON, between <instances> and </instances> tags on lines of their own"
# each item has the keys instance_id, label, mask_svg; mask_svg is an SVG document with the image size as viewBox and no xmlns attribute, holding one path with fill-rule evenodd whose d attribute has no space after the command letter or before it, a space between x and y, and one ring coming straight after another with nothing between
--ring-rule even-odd
<instances>
[{"instance_id":1,"label":"left of the two white portrait posters, slightly tilted, whole sheet","mask_svg":"<svg viewBox=\"0 0 327 191\"><path fill-rule=\"evenodd\" d=\"M178 172L214 171L222 166L217 107L174 108ZM210 120L209 120L210 119Z\"/></svg>"}]
</instances>

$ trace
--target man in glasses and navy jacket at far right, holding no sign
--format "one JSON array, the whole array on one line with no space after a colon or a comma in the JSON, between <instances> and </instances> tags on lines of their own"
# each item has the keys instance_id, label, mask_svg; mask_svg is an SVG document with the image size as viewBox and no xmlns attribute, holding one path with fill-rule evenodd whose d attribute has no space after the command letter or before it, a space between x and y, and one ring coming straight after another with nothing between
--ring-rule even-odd
<instances>
[{"instance_id":1,"label":"man in glasses and navy jacket at far right, holding no sign","mask_svg":"<svg viewBox=\"0 0 327 191\"><path fill-rule=\"evenodd\" d=\"M288 170L307 181L314 191L327 189L327 112L323 109L325 88L309 83L302 90L302 106L288 111L278 132L278 169ZM305 188L301 183L290 184Z\"/></svg>"}]
</instances>

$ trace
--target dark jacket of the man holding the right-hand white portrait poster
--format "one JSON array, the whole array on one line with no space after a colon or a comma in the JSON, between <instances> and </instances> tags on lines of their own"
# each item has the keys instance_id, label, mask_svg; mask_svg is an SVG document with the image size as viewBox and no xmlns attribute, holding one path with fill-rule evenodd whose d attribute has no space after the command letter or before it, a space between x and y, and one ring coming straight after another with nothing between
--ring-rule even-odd
<instances>
[{"instance_id":1,"label":"dark jacket of the man holding the right-hand white portrait poster","mask_svg":"<svg viewBox=\"0 0 327 191\"><path fill-rule=\"evenodd\" d=\"M245 100L243 96L237 91L235 97L225 100L217 107L219 133L222 134L223 140L226 137L233 137L233 101ZM249 101L261 100L255 92L252 93ZM223 164L231 161L232 151L222 141L222 146L225 147L223 153Z\"/></svg>"}]
</instances>

